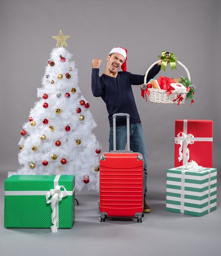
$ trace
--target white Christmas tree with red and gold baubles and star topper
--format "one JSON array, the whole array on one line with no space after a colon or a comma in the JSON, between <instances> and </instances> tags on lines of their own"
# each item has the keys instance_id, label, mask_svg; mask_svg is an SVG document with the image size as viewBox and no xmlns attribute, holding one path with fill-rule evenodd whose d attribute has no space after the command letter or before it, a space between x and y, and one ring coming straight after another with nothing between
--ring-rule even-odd
<instances>
[{"instance_id":1,"label":"white Christmas tree with red and gold baubles and star topper","mask_svg":"<svg viewBox=\"0 0 221 256\"><path fill-rule=\"evenodd\" d=\"M51 52L42 88L30 111L29 121L23 125L19 141L18 175L75 175L76 189L87 184L99 189L100 146L92 133L96 127L89 103L80 96L78 70L61 30L57 48Z\"/></svg>"}]
</instances>

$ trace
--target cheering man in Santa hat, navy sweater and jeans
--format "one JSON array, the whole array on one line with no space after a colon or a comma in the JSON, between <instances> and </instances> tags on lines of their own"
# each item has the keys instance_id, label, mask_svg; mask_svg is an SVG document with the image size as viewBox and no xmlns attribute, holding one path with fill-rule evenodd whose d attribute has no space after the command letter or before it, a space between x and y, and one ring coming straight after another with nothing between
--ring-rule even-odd
<instances>
[{"instance_id":1,"label":"cheering man in Santa hat, navy sweater and jeans","mask_svg":"<svg viewBox=\"0 0 221 256\"><path fill-rule=\"evenodd\" d=\"M128 113L130 115L130 149L139 152L144 159L145 192L144 213L150 212L146 204L147 193L147 150L143 135L141 119L139 117L131 85L144 83L145 75L135 75L127 72L127 50L121 47L113 48L107 56L107 67L99 77L100 59L92 61L92 93L94 97L101 97L106 103L109 114L110 134L109 150L113 150L113 115L116 113ZM160 71L161 62L154 65L147 75L147 83ZM119 72L122 68L123 72ZM126 118L116 119L116 150L124 150L127 143Z\"/></svg>"}]
</instances>

